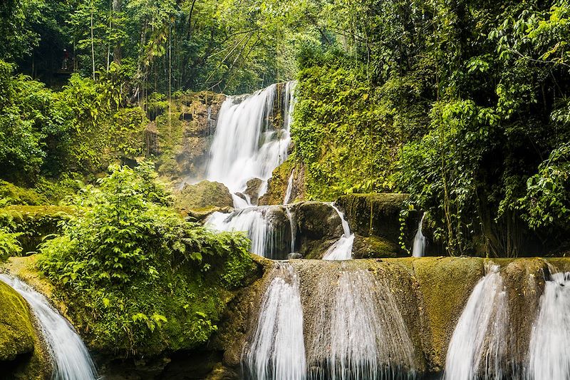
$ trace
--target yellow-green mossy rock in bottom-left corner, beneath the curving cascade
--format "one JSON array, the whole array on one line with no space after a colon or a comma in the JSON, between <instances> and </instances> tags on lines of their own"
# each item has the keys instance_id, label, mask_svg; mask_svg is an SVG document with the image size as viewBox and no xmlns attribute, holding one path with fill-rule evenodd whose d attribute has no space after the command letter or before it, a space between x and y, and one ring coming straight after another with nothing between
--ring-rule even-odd
<instances>
[{"instance_id":1,"label":"yellow-green mossy rock in bottom-left corner, beneath the curving cascade","mask_svg":"<svg viewBox=\"0 0 570 380\"><path fill-rule=\"evenodd\" d=\"M0 373L3 379L48 379L50 361L28 304L0 281Z\"/></svg>"}]
</instances>

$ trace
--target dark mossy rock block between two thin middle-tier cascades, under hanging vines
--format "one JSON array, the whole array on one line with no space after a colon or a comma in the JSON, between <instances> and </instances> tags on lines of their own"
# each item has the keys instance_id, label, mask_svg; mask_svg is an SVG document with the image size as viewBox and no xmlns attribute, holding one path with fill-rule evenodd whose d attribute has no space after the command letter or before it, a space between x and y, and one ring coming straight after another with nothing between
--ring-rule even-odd
<instances>
[{"instance_id":1,"label":"dark mossy rock block between two thin middle-tier cascades, under hanging vines","mask_svg":"<svg viewBox=\"0 0 570 380\"><path fill-rule=\"evenodd\" d=\"M354 257L409 255L400 247L400 211L407 208L407 199L408 195L396 193L351 194L338 198L335 203L356 235ZM420 218L420 212L409 212L405 220L403 238L410 250Z\"/></svg>"}]
</instances>

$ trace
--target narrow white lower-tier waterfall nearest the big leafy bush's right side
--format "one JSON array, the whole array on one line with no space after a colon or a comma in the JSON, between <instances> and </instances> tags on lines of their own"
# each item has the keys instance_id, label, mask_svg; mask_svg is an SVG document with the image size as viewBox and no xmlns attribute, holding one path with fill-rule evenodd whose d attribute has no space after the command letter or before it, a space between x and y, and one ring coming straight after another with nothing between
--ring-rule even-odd
<instances>
[{"instance_id":1,"label":"narrow white lower-tier waterfall nearest the big leafy bush's right side","mask_svg":"<svg viewBox=\"0 0 570 380\"><path fill-rule=\"evenodd\" d=\"M302 380L306 359L299 279L287 263L277 264L271 276L242 366L249 379Z\"/></svg>"}]
</instances>

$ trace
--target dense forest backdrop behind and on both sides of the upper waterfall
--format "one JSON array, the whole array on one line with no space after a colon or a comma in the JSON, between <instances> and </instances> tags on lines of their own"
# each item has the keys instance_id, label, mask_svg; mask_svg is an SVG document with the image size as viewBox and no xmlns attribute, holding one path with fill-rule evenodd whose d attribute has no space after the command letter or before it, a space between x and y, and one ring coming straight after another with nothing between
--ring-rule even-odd
<instances>
[{"instance_id":1,"label":"dense forest backdrop behind and on both sides of the upper waterfall","mask_svg":"<svg viewBox=\"0 0 570 380\"><path fill-rule=\"evenodd\" d=\"M0 165L16 185L61 195L109 157L145 155L136 136L177 94L297 79L290 159L311 199L408 192L450 255L569 249L568 1L9 0L0 12Z\"/></svg>"}]
</instances>

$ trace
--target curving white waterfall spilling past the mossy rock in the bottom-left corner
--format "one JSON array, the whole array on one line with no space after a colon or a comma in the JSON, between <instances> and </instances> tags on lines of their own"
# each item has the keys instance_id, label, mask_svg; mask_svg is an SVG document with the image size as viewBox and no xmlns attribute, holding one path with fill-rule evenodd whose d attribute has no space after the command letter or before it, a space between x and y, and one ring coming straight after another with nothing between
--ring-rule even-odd
<instances>
[{"instance_id":1,"label":"curving white waterfall spilling past the mossy rock in the bottom-left corner","mask_svg":"<svg viewBox=\"0 0 570 380\"><path fill-rule=\"evenodd\" d=\"M19 279L0 274L0 281L9 284L30 305L38 319L53 360L53 379L97 379L97 371L89 351L67 319L53 309L46 297Z\"/></svg>"}]
</instances>

